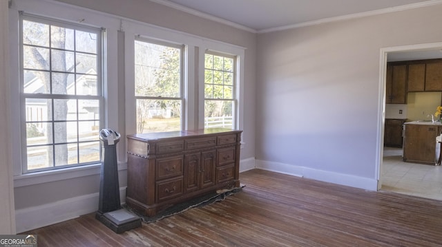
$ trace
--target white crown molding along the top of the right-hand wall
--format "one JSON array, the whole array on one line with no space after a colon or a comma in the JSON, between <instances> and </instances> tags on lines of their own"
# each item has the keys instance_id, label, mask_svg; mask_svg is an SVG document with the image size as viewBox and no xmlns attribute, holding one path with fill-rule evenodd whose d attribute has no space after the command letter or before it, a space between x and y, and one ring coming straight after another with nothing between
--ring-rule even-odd
<instances>
[{"instance_id":1,"label":"white crown molding along the top of the right-hand wall","mask_svg":"<svg viewBox=\"0 0 442 247\"><path fill-rule=\"evenodd\" d=\"M399 11L403 11L403 10L412 10L415 8L434 6L434 5L438 5L441 3L442 3L442 0L430 0L430 1L424 1L421 3L407 4L404 6L384 8L381 10L372 10L372 11L361 12L361 13L357 13L357 14L347 14L347 15L343 15L340 17L331 17L331 18L319 19L316 21L307 21L307 22L303 22L303 23L297 23L297 24L293 24L293 25L284 25L284 26L280 26L280 27L276 27L276 28L267 28L267 29L263 29L263 30L258 30L258 33L262 34L262 33L266 33L266 32L276 32L276 31L289 30L289 29L295 29L295 28L303 28L303 27L308 27L311 25L319 25L319 24L330 23L330 22L335 22L335 21L347 21L349 19L370 17L370 16L374 16L374 15L378 15L378 14L387 14L387 13L399 12Z\"/></svg>"}]
</instances>

